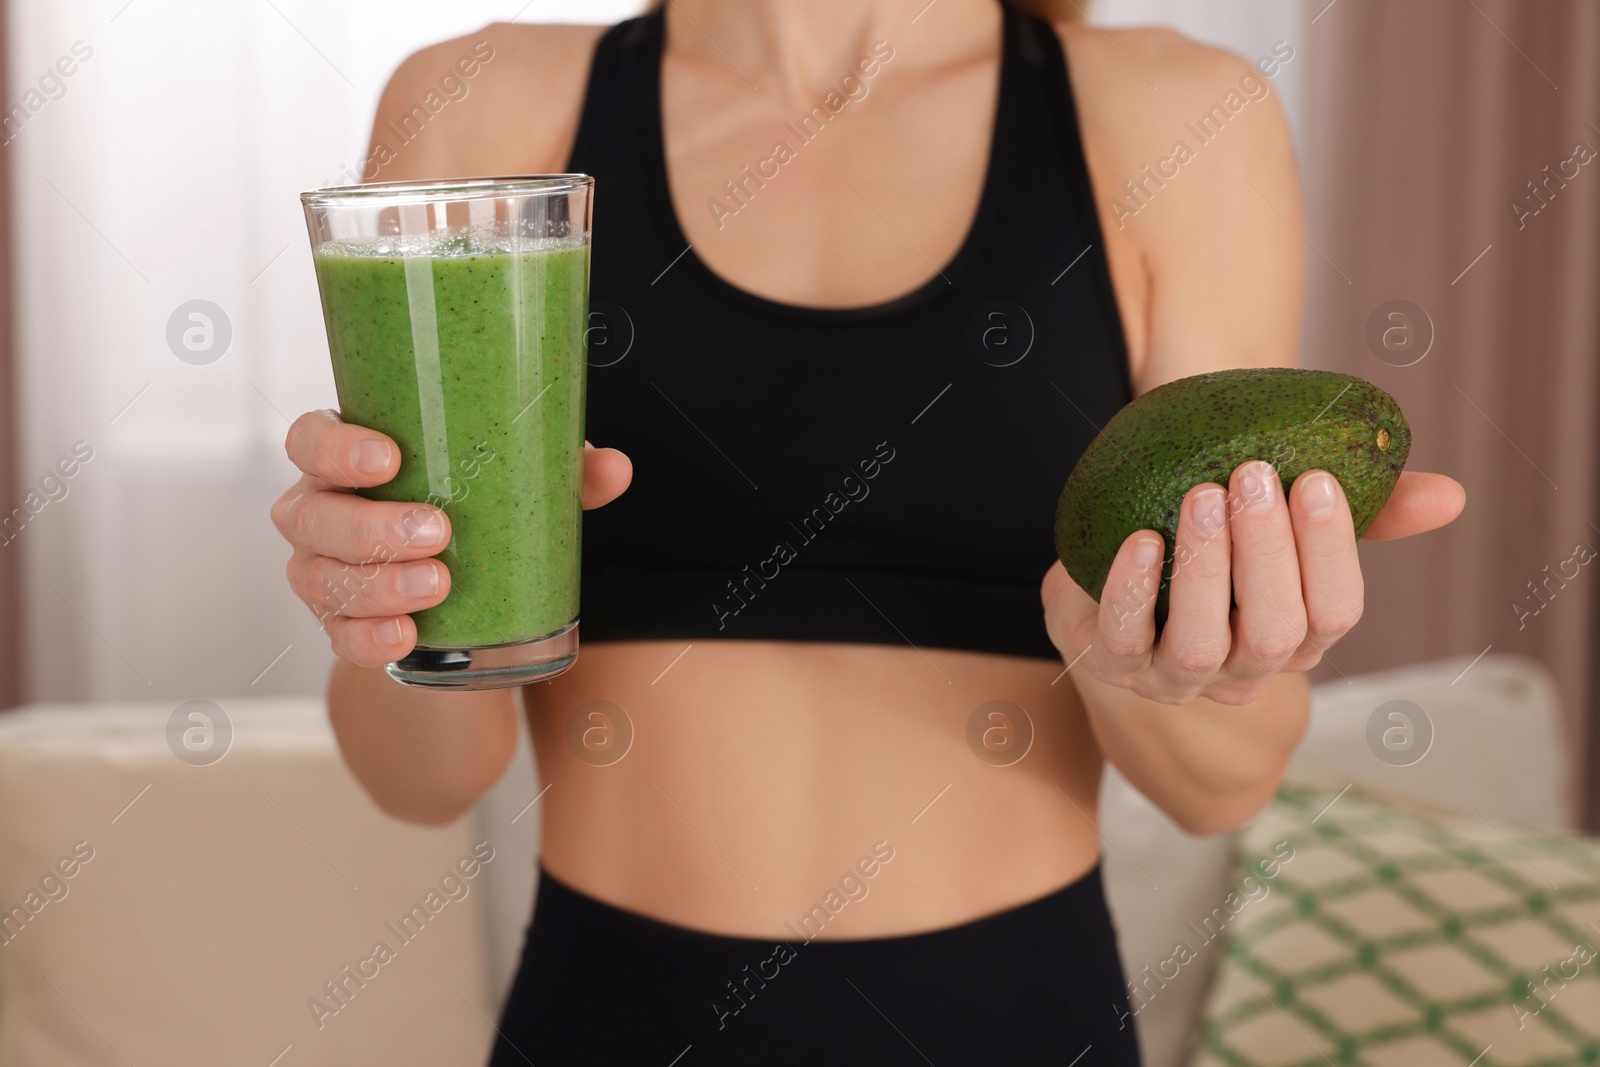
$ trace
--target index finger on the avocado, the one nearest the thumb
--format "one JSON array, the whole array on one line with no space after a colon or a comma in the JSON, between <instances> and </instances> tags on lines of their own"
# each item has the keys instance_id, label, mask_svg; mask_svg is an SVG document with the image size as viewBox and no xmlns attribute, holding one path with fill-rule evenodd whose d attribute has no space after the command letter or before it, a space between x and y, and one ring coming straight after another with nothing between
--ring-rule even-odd
<instances>
[{"instance_id":1,"label":"index finger on the avocado, the one nearest the thumb","mask_svg":"<svg viewBox=\"0 0 1600 1067\"><path fill-rule=\"evenodd\" d=\"M1288 669L1309 670L1362 617L1362 561L1350 506L1331 474L1307 470L1294 480L1290 517L1306 603L1306 641Z\"/></svg>"}]
</instances>

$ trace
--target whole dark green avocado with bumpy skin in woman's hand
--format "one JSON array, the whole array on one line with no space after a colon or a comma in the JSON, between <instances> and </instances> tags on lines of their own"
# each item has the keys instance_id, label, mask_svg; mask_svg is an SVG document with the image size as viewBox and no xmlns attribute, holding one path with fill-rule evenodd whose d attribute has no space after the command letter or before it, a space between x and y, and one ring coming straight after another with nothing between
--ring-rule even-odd
<instances>
[{"instance_id":1,"label":"whole dark green avocado with bumpy skin in woman's hand","mask_svg":"<svg viewBox=\"0 0 1600 1067\"><path fill-rule=\"evenodd\" d=\"M1387 432L1387 448L1381 446ZM1182 378L1138 397L1085 450L1056 506L1056 552L1096 600L1128 534L1166 541L1155 624L1166 621L1178 515L1202 482L1224 490L1251 459L1277 467L1283 491L1306 470L1344 486L1355 536L1394 491L1411 427L1378 386L1333 371L1250 368ZM1238 501L1229 499L1229 514Z\"/></svg>"}]
</instances>

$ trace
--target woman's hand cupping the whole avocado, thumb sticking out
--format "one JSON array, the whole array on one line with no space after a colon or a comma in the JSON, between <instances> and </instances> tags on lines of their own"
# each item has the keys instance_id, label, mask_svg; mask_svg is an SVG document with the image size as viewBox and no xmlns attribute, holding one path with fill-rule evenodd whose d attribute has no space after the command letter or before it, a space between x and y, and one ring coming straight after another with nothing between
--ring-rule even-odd
<instances>
[{"instance_id":1,"label":"woman's hand cupping the whole avocado, thumb sticking out","mask_svg":"<svg viewBox=\"0 0 1600 1067\"><path fill-rule=\"evenodd\" d=\"M1402 474L1366 539L1443 526L1464 504L1453 478ZM1286 501L1277 472L1259 461L1234 470L1227 491L1189 491L1157 640L1165 549L1150 530L1123 541L1099 603L1061 563L1050 568L1045 624L1069 665L1162 704L1248 704L1272 675L1314 667L1362 617L1350 509L1323 470L1296 478Z\"/></svg>"}]
</instances>

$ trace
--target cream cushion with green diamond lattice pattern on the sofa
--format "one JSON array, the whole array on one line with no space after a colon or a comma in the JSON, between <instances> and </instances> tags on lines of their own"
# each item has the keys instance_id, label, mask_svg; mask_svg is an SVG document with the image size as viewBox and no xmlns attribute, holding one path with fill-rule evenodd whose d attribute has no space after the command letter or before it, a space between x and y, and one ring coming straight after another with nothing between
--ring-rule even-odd
<instances>
[{"instance_id":1,"label":"cream cushion with green diamond lattice pattern on the sofa","mask_svg":"<svg viewBox=\"0 0 1600 1067\"><path fill-rule=\"evenodd\" d=\"M1240 841L1192 1067L1600 1064L1600 841L1306 777Z\"/></svg>"}]
</instances>

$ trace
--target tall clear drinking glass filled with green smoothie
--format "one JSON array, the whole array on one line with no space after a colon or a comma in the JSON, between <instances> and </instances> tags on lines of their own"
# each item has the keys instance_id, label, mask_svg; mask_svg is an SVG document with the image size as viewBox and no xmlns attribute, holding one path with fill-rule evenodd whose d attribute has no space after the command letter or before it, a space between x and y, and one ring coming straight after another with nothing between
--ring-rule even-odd
<instances>
[{"instance_id":1,"label":"tall clear drinking glass filled with green smoothie","mask_svg":"<svg viewBox=\"0 0 1600 1067\"><path fill-rule=\"evenodd\" d=\"M360 493L451 522L450 593L387 665L406 685L493 689L578 659L592 192L549 174L301 194L341 414L400 446L394 482Z\"/></svg>"}]
</instances>

